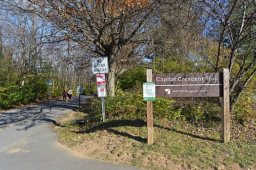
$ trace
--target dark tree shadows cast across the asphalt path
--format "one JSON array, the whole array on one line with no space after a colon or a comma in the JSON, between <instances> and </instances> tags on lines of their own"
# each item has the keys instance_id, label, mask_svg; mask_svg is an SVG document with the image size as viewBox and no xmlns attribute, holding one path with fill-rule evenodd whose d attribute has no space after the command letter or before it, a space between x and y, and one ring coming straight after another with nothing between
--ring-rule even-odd
<instances>
[{"instance_id":1,"label":"dark tree shadows cast across the asphalt path","mask_svg":"<svg viewBox=\"0 0 256 170\"><path fill-rule=\"evenodd\" d=\"M80 102L82 103L92 96L93 95L81 95ZM73 96L72 99L73 100L70 102L59 99L1 112L0 129L17 125L17 131L26 131L44 122L51 122L56 126L61 126L57 124L55 120L66 115L69 111L77 111L78 96Z\"/></svg>"}]
</instances>

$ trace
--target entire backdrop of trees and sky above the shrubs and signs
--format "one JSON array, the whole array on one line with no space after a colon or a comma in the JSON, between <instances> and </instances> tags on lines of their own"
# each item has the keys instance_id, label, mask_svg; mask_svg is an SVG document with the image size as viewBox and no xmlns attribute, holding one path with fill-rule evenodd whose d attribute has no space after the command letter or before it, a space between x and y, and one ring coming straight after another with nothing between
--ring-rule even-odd
<instances>
[{"instance_id":1,"label":"entire backdrop of trees and sky above the shrubs and signs","mask_svg":"<svg viewBox=\"0 0 256 170\"><path fill-rule=\"evenodd\" d=\"M90 86L90 59L108 56L108 93L135 66L155 73L230 70L232 106L256 73L256 2L0 1L2 85L27 77ZM145 62L148 56L151 62Z\"/></svg>"}]
</instances>

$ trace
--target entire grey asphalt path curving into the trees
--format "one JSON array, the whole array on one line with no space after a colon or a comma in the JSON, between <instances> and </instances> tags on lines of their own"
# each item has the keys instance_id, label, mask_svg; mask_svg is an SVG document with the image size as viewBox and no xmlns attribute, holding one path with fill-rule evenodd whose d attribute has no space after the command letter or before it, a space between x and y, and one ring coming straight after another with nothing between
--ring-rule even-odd
<instances>
[{"instance_id":1,"label":"entire grey asphalt path curving into the trees","mask_svg":"<svg viewBox=\"0 0 256 170\"><path fill-rule=\"evenodd\" d=\"M91 97L81 95L80 102ZM0 113L0 170L139 169L75 154L57 141L50 125L78 108L72 101L55 100Z\"/></svg>"}]
</instances>

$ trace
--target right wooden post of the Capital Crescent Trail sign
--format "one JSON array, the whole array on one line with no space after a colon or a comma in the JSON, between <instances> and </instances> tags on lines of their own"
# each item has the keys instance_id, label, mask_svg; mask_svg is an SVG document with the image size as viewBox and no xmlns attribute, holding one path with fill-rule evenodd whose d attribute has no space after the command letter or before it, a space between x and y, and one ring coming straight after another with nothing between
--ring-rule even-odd
<instances>
[{"instance_id":1,"label":"right wooden post of the Capital Crescent Trail sign","mask_svg":"<svg viewBox=\"0 0 256 170\"><path fill-rule=\"evenodd\" d=\"M223 69L223 97L222 99L222 142L228 143L230 140L230 120L229 120L229 69Z\"/></svg>"}]
</instances>

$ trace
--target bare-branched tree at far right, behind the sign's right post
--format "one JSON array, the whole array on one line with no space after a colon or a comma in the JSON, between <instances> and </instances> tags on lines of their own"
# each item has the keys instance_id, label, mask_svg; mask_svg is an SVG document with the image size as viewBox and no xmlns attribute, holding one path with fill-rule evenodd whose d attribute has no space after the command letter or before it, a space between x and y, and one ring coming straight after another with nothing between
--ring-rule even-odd
<instances>
[{"instance_id":1,"label":"bare-branched tree at far right, behind the sign's right post","mask_svg":"<svg viewBox=\"0 0 256 170\"><path fill-rule=\"evenodd\" d=\"M256 74L256 2L202 0L205 13L209 19L205 25L210 30L211 39L218 41L215 71L218 72L225 60L230 71L231 104L234 105L247 83ZM205 34L207 36L207 34ZM225 58L225 49L230 53Z\"/></svg>"}]
</instances>

